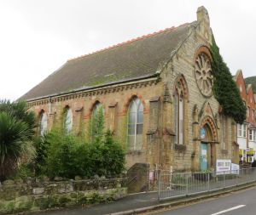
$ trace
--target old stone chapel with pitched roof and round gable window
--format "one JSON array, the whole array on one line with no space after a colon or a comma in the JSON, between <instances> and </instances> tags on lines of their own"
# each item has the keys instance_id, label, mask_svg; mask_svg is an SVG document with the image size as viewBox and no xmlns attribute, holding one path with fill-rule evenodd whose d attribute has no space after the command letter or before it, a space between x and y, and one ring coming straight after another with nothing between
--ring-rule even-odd
<instances>
[{"instance_id":1,"label":"old stone chapel with pitched roof and round gable window","mask_svg":"<svg viewBox=\"0 0 256 215\"><path fill-rule=\"evenodd\" d=\"M215 169L217 159L237 163L236 123L212 95L211 43L201 7L192 23L67 60L21 99L38 116L38 133L65 112L67 130L79 134L102 105L127 168L139 162L198 171Z\"/></svg>"}]
</instances>

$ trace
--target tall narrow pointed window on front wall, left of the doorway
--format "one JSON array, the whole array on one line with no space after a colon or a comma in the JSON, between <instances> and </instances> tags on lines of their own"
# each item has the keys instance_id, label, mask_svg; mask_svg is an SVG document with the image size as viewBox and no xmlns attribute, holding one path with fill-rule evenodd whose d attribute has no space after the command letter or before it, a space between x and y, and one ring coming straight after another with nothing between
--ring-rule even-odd
<instances>
[{"instance_id":1,"label":"tall narrow pointed window on front wall, left of the doorway","mask_svg":"<svg viewBox=\"0 0 256 215\"><path fill-rule=\"evenodd\" d=\"M175 144L183 144L184 142L184 99L183 85L178 81L173 93Z\"/></svg>"}]
</instances>

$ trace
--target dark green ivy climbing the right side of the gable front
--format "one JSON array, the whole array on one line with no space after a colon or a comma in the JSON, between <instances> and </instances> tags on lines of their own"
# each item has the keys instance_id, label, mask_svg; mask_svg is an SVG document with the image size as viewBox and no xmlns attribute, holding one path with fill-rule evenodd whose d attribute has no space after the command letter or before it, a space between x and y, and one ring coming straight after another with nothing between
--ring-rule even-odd
<instances>
[{"instance_id":1,"label":"dark green ivy climbing the right side of the gable front","mask_svg":"<svg viewBox=\"0 0 256 215\"><path fill-rule=\"evenodd\" d=\"M242 102L229 67L219 54L219 48L214 37L212 37L211 54L214 96L222 106L225 116L231 116L236 122L243 123L246 120L246 106Z\"/></svg>"}]
</instances>

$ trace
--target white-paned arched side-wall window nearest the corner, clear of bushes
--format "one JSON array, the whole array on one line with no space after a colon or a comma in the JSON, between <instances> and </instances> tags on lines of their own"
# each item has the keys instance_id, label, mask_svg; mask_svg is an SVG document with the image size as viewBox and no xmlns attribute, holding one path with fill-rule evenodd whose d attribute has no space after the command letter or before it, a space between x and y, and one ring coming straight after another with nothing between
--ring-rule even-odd
<instances>
[{"instance_id":1,"label":"white-paned arched side-wall window nearest the corner, clear of bushes","mask_svg":"<svg viewBox=\"0 0 256 215\"><path fill-rule=\"evenodd\" d=\"M143 103L133 98L128 110L128 144L130 150L142 150L143 146Z\"/></svg>"}]
</instances>

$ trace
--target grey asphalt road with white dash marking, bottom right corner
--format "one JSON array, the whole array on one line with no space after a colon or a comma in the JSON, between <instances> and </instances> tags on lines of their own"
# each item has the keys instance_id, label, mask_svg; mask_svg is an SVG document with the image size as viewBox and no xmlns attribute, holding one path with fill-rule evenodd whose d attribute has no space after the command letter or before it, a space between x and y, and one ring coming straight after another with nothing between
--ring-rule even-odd
<instances>
[{"instance_id":1,"label":"grey asphalt road with white dash marking, bottom right corner","mask_svg":"<svg viewBox=\"0 0 256 215\"><path fill-rule=\"evenodd\" d=\"M256 214L256 188L242 190L231 195L219 197L179 207L165 212L151 212L154 215L255 215Z\"/></svg>"}]
</instances>

